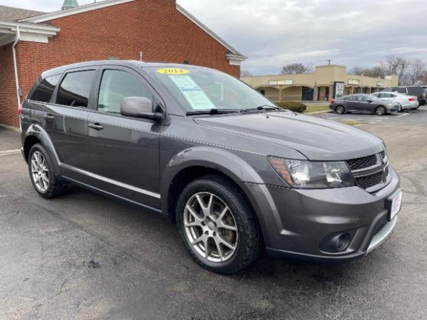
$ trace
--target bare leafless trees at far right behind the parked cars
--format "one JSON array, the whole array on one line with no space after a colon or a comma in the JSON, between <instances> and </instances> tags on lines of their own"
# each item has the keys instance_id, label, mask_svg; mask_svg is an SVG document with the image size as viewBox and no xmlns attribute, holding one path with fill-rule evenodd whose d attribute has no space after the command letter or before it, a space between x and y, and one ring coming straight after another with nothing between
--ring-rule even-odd
<instances>
[{"instance_id":1,"label":"bare leafless trees at far right behind the parked cars","mask_svg":"<svg viewBox=\"0 0 427 320\"><path fill-rule=\"evenodd\" d=\"M421 59L389 56L371 68L355 66L350 72L358 76L380 77L397 75L399 85L427 84L427 65Z\"/></svg>"}]
</instances>

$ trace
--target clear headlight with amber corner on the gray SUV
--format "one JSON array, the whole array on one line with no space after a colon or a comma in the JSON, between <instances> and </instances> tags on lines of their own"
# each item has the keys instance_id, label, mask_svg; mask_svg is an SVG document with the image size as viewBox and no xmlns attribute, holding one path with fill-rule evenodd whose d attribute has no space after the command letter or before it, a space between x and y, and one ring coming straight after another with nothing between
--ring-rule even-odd
<instances>
[{"instance_id":1,"label":"clear headlight with amber corner on the gray SUV","mask_svg":"<svg viewBox=\"0 0 427 320\"><path fill-rule=\"evenodd\" d=\"M355 185L345 162L310 162L269 157L269 163L292 188L326 189Z\"/></svg>"}]
</instances>

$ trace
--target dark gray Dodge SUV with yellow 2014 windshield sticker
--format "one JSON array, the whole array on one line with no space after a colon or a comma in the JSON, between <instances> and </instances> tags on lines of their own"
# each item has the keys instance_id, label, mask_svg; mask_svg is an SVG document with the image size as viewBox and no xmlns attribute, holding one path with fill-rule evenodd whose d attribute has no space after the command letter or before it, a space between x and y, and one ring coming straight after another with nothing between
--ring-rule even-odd
<instances>
[{"instance_id":1,"label":"dark gray Dodge SUV with yellow 2014 windshield sticker","mask_svg":"<svg viewBox=\"0 0 427 320\"><path fill-rule=\"evenodd\" d=\"M44 72L20 111L35 190L69 184L165 215L211 271L348 261L386 239L401 189L383 141L281 110L215 70L96 61Z\"/></svg>"}]
</instances>

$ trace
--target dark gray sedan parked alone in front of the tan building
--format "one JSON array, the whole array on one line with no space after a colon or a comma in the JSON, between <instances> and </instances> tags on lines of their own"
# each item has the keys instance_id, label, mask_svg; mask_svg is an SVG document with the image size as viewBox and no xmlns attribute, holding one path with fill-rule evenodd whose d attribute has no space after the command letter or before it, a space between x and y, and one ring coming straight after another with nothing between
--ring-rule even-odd
<instances>
[{"instance_id":1,"label":"dark gray sedan parked alone in front of the tan building","mask_svg":"<svg viewBox=\"0 0 427 320\"><path fill-rule=\"evenodd\" d=\"M338 114L346 112L373 113L384 116L399 110L396 102L384 101L370 94L350 94L331 100L329 108Z\"/></svg>"}]
</instances>

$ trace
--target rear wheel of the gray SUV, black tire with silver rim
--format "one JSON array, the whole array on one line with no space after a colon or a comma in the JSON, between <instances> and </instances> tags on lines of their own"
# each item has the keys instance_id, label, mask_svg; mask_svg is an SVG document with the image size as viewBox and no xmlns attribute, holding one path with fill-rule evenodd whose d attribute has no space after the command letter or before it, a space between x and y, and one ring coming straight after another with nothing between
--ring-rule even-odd
<instances>
[{"instance_id":1,"label":"rear wheel of the gray SUV, black tire with silver rim","mask_svg":"<svg viewBox=\"0 0 427 320\"><path fill-rule=\"evenodd\" d=\"M35 191L47 199L63 195L66 186L55 173L52 160L43 145L33 145L28 157L29 176Z\"/></svg>"}]
</instances>

